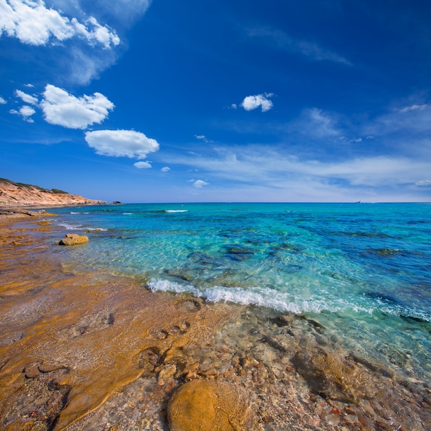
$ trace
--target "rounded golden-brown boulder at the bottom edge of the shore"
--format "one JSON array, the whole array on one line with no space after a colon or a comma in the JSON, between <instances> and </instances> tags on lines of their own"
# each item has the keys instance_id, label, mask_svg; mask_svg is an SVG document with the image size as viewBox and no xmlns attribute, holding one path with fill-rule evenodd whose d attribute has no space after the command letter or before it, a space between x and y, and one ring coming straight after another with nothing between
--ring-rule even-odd
<instances>
[{"instance_id":1,"label":"rounded golden-brown boulder at the bottom edge of the shore","mask_svg":"<svg viewBox=\"0 0 431 431\"><path fill-rule=\"evenodd\" d=\"M171 431L253 430L253 414L245 393L226 381L188 381L167 407Z\"/></svg>"}]
</instances>

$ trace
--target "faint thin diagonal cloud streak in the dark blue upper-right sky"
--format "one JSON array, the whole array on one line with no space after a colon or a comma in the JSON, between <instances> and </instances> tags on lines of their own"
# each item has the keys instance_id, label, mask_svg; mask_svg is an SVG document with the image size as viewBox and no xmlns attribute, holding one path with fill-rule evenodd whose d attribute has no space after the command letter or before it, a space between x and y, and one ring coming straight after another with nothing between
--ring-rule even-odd
<instances>
[{"instance_id":1,"label":"faint thin diagonal cloud streak in the dark blue upper-right sky","mask_svg":"<svg viewBox=\"0 0 431 431\"><path fill-rule=\"evenodd\" d=\"M328 50L318 43L295 39L282 30L268 27L249 28L246 30L246 34L249 37L262 39L277 50L300 54L313 61L327 60L344 65L352 64L344 56Z\"/></svg>"}]
</instances>

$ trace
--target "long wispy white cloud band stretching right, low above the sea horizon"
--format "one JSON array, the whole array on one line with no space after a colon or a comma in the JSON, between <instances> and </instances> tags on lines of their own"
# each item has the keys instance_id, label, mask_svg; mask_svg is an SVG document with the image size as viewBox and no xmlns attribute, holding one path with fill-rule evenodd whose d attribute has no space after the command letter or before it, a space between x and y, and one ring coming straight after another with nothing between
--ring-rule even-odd
<instances>
[{"instance_id":1,"label":"long wispy white cloud band stretching right, low above the sea horizon","mask_svg":"<svg viewBox=\"0 0 431 431\"><path fill-rule=\"evenodd\" d=\"M280 187L295 182L344 182L350 187L395 187L419 183L431 171L431 161L399 156L363 156L340 161L299 158L264 146L221 147L211 154L185 155L171 163L197 168L215 178Z\"/></svg>"}]
</instances>

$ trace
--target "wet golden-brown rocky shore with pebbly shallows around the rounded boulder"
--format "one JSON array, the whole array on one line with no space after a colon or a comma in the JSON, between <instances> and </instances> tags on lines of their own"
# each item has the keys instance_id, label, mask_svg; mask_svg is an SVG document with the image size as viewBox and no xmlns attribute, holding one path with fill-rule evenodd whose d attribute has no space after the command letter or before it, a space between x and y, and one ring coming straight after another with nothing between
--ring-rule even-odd
<instances>
[{"instance_id":1,"label":"wet golden-brown rocky shore with pebbly shallows around the rounded boulder","mask_svg":"<svg viewBox=\"0 0 431 431\"><path fill-rule=\"evenodd\" d=\"M0 429L180 429L169 399L202 380L241 394L214 430L430 430L429 384L343 350L319 316L72 270L48 233L0 220Z\"/></svg>"}]
</instances>

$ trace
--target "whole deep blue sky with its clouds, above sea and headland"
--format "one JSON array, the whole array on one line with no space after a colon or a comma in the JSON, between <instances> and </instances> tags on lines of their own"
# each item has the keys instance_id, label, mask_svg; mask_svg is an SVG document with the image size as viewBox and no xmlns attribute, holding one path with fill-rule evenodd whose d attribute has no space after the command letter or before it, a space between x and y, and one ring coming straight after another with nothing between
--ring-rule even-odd
<instances>
[{"instance_id":1,"label":"whole deep blue sky with its clouds, above sea and headland","mask_svg":"<svg viewBox=\"0 0 431 431\"><path fill-rule=\"evenodd\" d=\"M0 177L122 202L431 201L428 0L0 0Z\"/></svg>"}]
</instances>

